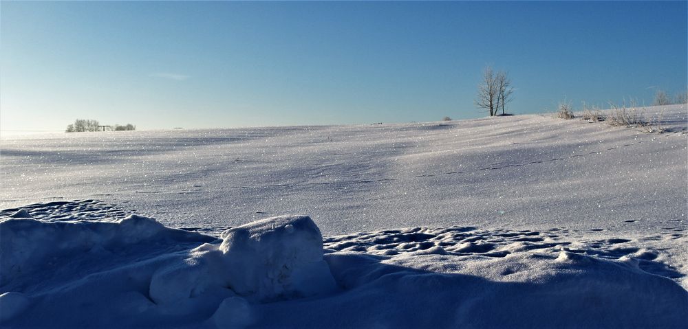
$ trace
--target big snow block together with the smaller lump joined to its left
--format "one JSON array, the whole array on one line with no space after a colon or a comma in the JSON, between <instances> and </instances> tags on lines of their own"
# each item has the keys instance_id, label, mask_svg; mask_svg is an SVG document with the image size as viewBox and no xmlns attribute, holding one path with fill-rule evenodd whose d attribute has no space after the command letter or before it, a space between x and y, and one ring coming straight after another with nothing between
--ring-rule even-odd
<instances>
[{"instance_id":1,"label":"big snow block together with the smaller lump joined to its left","mask_svg":"<svg viewBox=\"0 0 688 329\"><path fill-rule=\"evenodd\" d=\"M334 291L320 230L308 216L266 218L228 229L221 244L201 245L179 264L156 271L150 295L157 304L173 304L227 287L257 302Z\"/></svg>"}]
</instances>

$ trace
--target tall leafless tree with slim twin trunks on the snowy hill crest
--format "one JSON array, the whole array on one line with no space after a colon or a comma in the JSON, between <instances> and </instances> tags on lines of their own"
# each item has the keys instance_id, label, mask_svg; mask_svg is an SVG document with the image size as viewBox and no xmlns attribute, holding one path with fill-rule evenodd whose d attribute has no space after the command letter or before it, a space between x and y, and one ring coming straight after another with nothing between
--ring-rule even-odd
<instances>
[{"instance_id":1,"label":"tall leafless tree with slim twin trunks on the snowy hill crest","mask_svg":"<svg viewBox=\"0 0 688 329\"><path fill-rule=\"evenodd\" d=\"M504 71L495 73L492 67L486 67L482 73L482 82L478 85L475 106L478 109L488 110L490 116L497 115L497 111L502 109L506 113L505 107L512 100L513 87L511 80Z\"/></svg>"}]
</instances>

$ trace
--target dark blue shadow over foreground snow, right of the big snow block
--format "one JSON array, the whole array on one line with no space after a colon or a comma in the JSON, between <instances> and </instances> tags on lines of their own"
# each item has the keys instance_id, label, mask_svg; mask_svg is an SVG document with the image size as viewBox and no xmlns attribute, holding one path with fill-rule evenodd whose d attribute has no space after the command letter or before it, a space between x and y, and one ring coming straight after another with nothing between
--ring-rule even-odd
<instances>
[{"instance_id":1,"label":"dark blue shadow over foreground snow, right of the big snow block","mask_svg":"<svg viewBox=\"0 0 688 329\"><path fill-rule=\"evenodd\" d=\"M286 328L680 328L688 321L688 292L664 277L585 256L572 256L579 258L573 263L529 257L526 262L550 262L555 273L497 282L385 264L382 256L331 253L325 260L340 293L261 304L256 325L278 319ZM505 276L518 273L508 270Z\"/></svg>"}]
</instances>

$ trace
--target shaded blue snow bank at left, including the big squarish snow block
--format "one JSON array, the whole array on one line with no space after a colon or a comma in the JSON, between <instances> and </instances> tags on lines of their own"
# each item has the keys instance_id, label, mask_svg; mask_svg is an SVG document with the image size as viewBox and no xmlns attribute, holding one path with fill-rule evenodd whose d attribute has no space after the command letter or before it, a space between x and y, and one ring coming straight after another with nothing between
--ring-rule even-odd
<instances>
[{"instance_id":1,"label":"shaded blue snow bank at left, including the big squarish snow block","mask_svg":"<svg viewBox=\"0 0 688 329\"><path fill-rule=\"evenodd\" d=\"M255 321L252 304L337 290L308 216L259 220L221 239L141 216L10 217L0 233L3 326L222 328Z\"/></svg>"}]
</instances>

